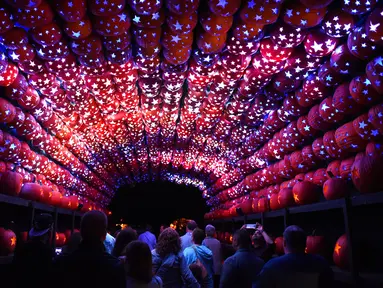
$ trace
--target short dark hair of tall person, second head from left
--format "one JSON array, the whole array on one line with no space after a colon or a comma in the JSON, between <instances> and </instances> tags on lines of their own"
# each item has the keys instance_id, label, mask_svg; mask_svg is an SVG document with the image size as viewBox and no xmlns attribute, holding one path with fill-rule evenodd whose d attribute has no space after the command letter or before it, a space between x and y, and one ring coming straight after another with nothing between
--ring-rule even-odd
<instances>
[{"instance_id":1,"label":"short dark hair of tall person, second head from left","mask_svg":"<svg viewBox=\"0 0 383 288\"><path fill-rule=\"evenodd\" d=\"M86 212L81 218L81 236L84 241L102 242L106 235L108 218L98 210Z\"/></svg>"}]
</instances>

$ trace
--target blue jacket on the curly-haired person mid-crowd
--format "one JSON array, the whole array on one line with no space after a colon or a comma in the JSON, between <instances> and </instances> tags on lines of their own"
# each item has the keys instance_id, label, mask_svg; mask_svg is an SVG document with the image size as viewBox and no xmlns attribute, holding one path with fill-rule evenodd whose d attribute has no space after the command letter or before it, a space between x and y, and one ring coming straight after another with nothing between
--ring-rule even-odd
<instances>
[{"instance_id":1,"label":"blue jacket on the curly-haired person mid-crowd","mask_svg":"<svg viewBox=\"0 0 383 288\"><path fill-rule=\"evenodd\" d=\"M164 288L200 288L190 271L182 252L169 254L164 258L152 250L153 274L162 279Z\"/></svg>"}]
</instances>

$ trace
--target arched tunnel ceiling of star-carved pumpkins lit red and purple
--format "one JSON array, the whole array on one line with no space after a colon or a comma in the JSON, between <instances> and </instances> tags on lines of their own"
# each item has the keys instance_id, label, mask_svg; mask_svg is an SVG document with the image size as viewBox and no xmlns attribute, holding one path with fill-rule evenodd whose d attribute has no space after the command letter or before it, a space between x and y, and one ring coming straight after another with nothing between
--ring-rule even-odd
<instances>
[{"instance_id":1,"label":"arched tunnel ceiling of star-carved pumpkins lit red and purple","mask_svg":"<svg viewBox=\"0 0 383 288\"><path fill-rule=\"evenodd\" d=\"M312 150L327 160L363 146L339 140L352 127L330 132L379 102L382 11L377 0L2 1L4 169L101 208L134 182L194 185L217 208L292 179L317 164Z\"/></svg>"}]
</instances>

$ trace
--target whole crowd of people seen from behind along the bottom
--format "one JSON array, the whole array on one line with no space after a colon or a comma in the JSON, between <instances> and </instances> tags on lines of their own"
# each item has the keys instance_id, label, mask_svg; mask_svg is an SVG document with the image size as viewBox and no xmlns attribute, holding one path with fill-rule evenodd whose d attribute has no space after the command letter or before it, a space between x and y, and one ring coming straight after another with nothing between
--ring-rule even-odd
<instances>
[{"instance_id":1,"label":"whole crowd of people seen from behind along the bottom","mask_svg":"<svg viewBox=\"0 0 383 288\"><path fill-rule=\"evenodd\" d=\"M330 288L333 275L326 261L305 253L306 235L298 226L284 231L285 255L272 258L274 242L257 225L233 235L233 255L223 261L215 227L198 228L190 220L180 237L161 227L158 237L132 228L107 233L103 212L89 211L79 233L72 233L60 255L52 253L53 219L38 215L26 244L14 255L16 287L134 287L134 288Z\"/></svg>"}]
</instances>

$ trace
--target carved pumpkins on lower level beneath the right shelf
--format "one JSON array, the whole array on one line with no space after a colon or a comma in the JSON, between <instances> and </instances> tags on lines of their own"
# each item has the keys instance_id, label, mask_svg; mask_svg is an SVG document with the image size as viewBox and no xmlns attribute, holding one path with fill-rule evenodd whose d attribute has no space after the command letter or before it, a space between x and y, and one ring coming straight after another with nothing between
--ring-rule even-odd
<instances>
[{"instance_id":1,"label":"carved pumpkins on lower level beneath the right shelf","mask_svg":"<svg viewBox=\"0 0 383 288\"><path fill-rule=\"evenodd\" d=\"M233 240L233 234L229 232L217 231L217 239L223 243L231 244ZM275 254L278 256L283 255L283 237L276 237L274 239L275 243ZM317 254L321 255L324 258L328 258L328 243L324 236L307 236L306 240L306 253L307 254ZM333 248L332 260L336 266L342 269L349 268L349 251L348 251L348 240L346 234L343 234L336 241Z\"/></svg>"}]
</instances>

